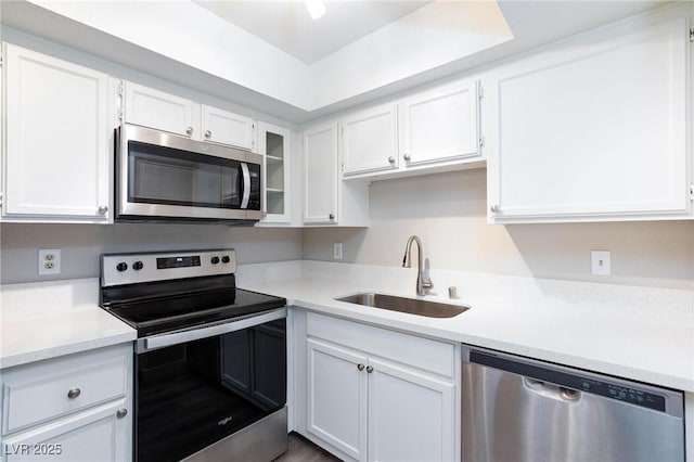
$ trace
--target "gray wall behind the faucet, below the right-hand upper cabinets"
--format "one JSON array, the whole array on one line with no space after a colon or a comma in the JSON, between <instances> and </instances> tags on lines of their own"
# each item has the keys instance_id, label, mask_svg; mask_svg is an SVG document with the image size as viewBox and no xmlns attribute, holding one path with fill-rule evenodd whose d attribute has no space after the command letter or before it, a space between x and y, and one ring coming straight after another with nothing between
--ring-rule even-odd
<instances>
[{"instance_id":1,"label":"gray wall behind the faucet, below the right-hand upper cabinets","mask_svg":"<svg viewBox=\"0 0 694 462\"><path fill-rule=\"evenodd\" d=\"M304 258L398 266L410 234L433 269L694 288L694 222L487 224L486 170L374 182L369 229L304 231ZM590 273L590 252L612 253L612 275Z\"/></svg>"}]
</instances>

